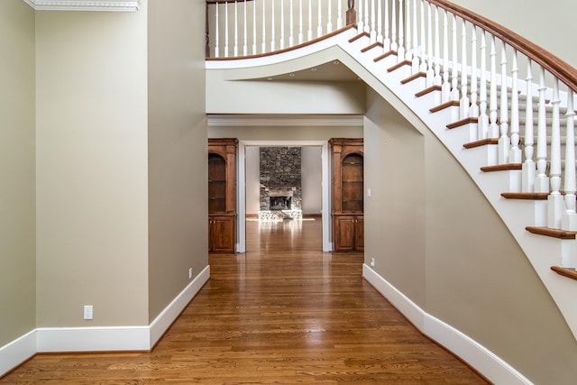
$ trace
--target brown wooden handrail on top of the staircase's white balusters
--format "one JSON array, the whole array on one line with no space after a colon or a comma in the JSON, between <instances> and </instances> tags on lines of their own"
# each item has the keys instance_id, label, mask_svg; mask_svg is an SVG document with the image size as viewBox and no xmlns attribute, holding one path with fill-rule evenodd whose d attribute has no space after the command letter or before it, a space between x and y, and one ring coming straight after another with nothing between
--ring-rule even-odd
<instances>
[{"instance_id":1,"label":"brown wooden handrail on top of the staircase's white balusters","mask_svg":"<svg viewBox=\"0 0 577 385\"><path fill-rule=\"evenodd\" d=\"M427 1L432 5L437 5L464 20L477 25L484 31L490 32L501 41L506 42L509 46L526 55L530 60L535 61L550 72L555 78L558 78L563 82L567 87L570 87L573 91L577 92L577 69L573 68L572 65L566 61L559 59L551 52L544 50L535 43L528 41L523 36L512 32L499 23L495 23L480 14L475 14L462 6L455 5L446 0Z\"/></svg>"}]
</instances>

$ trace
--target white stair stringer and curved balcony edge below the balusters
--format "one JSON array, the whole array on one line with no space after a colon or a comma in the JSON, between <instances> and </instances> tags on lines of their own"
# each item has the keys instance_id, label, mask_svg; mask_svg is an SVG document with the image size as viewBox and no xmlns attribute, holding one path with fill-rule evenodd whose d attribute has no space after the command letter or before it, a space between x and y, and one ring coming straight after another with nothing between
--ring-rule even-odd
<instances>
[{"instance_id":1,"label":"white stair stringer and curved balcony edge below the balusters","mask_svg":"<svg viewBox=\"0 0 577 385\"><path fill-rule=\"evenodd\" d=\"M469 173L472 180L488 198L503 223L507 225L509 232L527 255L527 259L543 281L577 340L577 307L574 304L574 298L577 298L577 286L574 280L563 278L550 270L551 266L562 265L563 249L574 250L575 241L527 232L526 226L534 225L536 221L538 223L538 218L543 216L546 201L507 200L501 197L502 192L510 192L511 180L517 179L516 172L520 173L520 171L482 172L481 167L490 165L494 157L493 150L488 146L464 149L463 134L455 133L455 129L446 128L447 124L455 122L454 109L458 110L458 107L449 107L437 113L430 113L429 109L436 106L431 104L435 101L435 91L430 95L415 96L416 86L411 83L418 83L418 81L409 82L406 85L400 83L404 78L408 78L405 69L387 71L396 63L396 56L375 62L374 58L379 55L379 49L362 52L362 49L371 44L370 39L362 37L349 42L356 34L355 29L347 29L298 50L289 50L258 59L207 60L206 69L231 69L227 79L234 80L241 79L235 78L234 69L244 69L242 78L246 79L246 69L249 69L248 73L250 73L250 69L259 68L258 71L255 70L255 74L258 73L258 77L255 75L255 78L260 78L267 71L270 76L274 76L279 73L306 69L310 66L311 58L317 60L318 64L329 60L340 60L400 114L404 115L409 123L435 133L453 157L462 164L463 169ZM410 70L409 66L407 68ZM469 130L469 128L460 127L456 130ZM466 137L466 133L464 135Z\"/></svg>"}]
</instances>

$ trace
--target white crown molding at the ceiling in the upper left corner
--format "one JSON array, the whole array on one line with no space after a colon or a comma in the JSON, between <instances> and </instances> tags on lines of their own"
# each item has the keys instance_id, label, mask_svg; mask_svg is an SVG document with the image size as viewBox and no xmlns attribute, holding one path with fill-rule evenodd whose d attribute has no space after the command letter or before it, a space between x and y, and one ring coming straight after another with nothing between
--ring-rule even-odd
<instances>
[{"instance_id":1,"label":"white crown molding at the ceiling in the upper left corner","mask_svg":"<svg viewBox=\"0 0 577 385\"><path fill-rule=\"evenodd\" d=\"M36 11L138 11L141 0L23 0Z\"/></svg>"}]
</instances>

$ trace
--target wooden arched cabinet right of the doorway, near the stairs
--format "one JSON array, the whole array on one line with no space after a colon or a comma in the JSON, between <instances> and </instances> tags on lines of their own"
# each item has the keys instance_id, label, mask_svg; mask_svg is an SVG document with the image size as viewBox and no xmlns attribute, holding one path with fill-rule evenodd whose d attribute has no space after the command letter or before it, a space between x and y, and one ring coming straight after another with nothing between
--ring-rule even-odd
<instances>
[{"instance_id":1,"label":"wooden arched cabinet right of the doorway, near the stairs","mask_svg":"<svg viewBox=\"0 0 577 385\"><path fill-rule=\"evenodd\" d=\"M331 145L333 252L364 251L362 139L334 138Z\"/></svg>"}]
</instances>

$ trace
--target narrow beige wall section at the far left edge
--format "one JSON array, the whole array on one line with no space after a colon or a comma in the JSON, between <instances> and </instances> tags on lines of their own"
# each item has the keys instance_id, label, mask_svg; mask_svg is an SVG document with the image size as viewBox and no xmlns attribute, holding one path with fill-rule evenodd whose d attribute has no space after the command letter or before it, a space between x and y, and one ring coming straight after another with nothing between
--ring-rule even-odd
<instances>
[{"instance_id":1,"label":"narrow beige wall section at the far left edge","mask_svg":"<svg viewBox=\"0 0 577 385\"><path fill-rule=\"evenodd\" d=\"M34 12L0 2L0 346L36 325Z\"/></svg>"}]
</instances>

